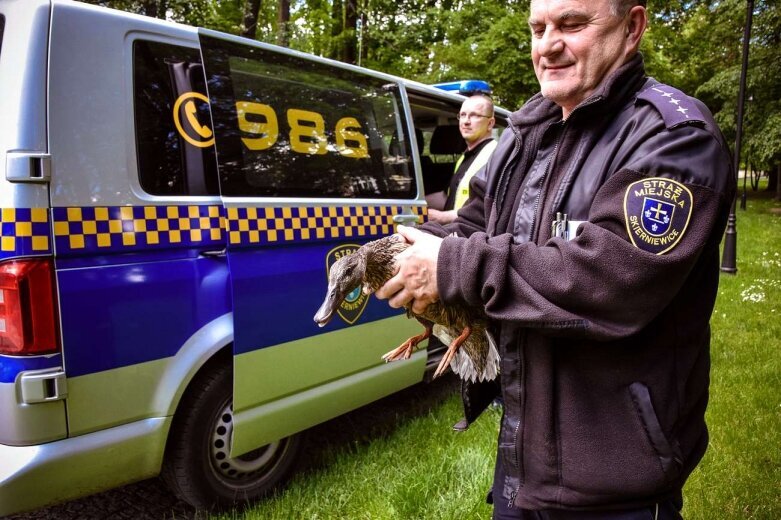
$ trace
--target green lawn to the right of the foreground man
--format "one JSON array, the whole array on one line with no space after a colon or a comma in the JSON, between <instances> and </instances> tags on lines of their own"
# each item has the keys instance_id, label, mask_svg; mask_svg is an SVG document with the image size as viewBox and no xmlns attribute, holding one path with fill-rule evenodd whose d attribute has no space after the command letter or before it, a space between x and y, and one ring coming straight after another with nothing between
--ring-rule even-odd
<instances>
[{"instance_id":1,"label":"green lawn to the right of the foreground man","mask_svg":"<svg viewBox=\"0 0 781 520\"><path fill-rule=\"evenodd\" d=\"M711 320L711 440L687 519L781 518L781 204L758 194L737 210L738 272Z\"/></svg>"}]
</instances>

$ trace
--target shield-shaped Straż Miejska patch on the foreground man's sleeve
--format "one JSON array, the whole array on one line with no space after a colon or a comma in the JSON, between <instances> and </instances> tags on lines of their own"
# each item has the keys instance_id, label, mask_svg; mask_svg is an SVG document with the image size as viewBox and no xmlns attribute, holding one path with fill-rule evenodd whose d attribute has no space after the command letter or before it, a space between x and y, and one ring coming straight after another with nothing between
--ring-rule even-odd
<instances>
[{"instance_id":1,"label":"shield-shaped Stra\u017c Miejska patch on the foreground man's sleeve","mask_svg":"<svg viewBox=\"0 0 781 520\"><path fill-rule=\"evenodd\" d=\"M630 184L624 194L624 218L635 247L663 255L686 233L694 197L680 182L650 177Z\"/></svg>"}]
</instances>

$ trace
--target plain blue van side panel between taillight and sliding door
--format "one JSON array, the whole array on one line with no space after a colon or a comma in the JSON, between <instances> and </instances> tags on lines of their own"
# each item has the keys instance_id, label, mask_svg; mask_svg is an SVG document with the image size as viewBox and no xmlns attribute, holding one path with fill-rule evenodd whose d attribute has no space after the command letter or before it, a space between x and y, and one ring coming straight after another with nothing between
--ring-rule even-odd
<instances>
[{"instance_id":1,"label":"plain blue van side panel between taillight and sliding door","mask_svg":"<svg viewBox=\"0 0 781 520\"><path fill-rule=\"evenodd\" d=\"M211 258L61 269L57 276L69 377L173 356L194 331L230 312L227 270Z\"/></svg>"}]
</instances>

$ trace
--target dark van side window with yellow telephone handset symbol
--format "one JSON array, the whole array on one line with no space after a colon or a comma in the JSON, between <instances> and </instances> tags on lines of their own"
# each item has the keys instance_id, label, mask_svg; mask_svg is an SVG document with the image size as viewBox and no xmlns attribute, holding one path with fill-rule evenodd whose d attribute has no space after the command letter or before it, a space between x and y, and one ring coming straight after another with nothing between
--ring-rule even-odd
<instances>
[{"instance_id":1,"label":"dark van side window with yellow telephone handset symbol","mask_svg":"<svg viewBox=\"0 0 781 520\"><path fill-rule=\"evenodd\" d=\"M141 188L152 195L219 194L200 61L198 49L133 44L138 174Z\"/></svg>"}]
</instances>

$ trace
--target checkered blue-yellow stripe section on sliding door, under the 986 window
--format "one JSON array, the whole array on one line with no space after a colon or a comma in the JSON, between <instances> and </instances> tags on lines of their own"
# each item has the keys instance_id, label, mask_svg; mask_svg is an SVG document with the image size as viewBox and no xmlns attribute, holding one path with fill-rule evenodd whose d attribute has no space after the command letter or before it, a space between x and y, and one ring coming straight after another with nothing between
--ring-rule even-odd
<instances>
[{"instance_id":1,"label":"checkered blue-yellow stripe section on sliding door, under the 986 window","mask_svg":"<svg viewBox=\"0 0 781 520\"><path fill-rule=\"evenodd\" d=\"M425 207L413 211L425 218ZM382 236L393 233L393 216L403 212L394 206L228 208L228 240L246 246Z\"/></svg>"}]
</instances>

